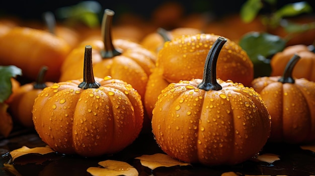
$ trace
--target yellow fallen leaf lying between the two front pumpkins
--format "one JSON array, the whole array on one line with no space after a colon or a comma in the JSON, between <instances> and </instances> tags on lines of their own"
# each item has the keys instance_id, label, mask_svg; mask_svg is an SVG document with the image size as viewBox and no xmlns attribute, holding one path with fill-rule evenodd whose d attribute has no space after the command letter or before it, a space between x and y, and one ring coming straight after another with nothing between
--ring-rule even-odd
<instances>
[{"instance_id":1,"label":"yellow fallen leaf lying between the two front pumpkins","mask_svg":"<svg viewBox=\"0 0 315 176\"><path fill-rule=\"evenodd\" d=\"M162 166L171 167L175 165L190 165L190 163L182 162L163 153L156 153L152 155L144 154L142 156L136 157L136 159L140 159L140 162L143 166L149 167L152 170Z\"/></svg>"}]
</instances>

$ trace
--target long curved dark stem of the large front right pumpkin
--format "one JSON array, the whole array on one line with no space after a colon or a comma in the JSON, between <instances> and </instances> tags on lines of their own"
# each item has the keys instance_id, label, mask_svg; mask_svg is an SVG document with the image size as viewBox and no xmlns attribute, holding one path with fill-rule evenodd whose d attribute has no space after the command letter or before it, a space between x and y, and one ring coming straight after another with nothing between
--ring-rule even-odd
<instances>
[{"instance_id":1,"label":"long curved dark stem of the large front right pumpkin","mask_svg":"<svg viewBox=\"0 0 315 176\"><path fill-rule=\"evenodd\" d=\"M199 89L205 91L222 89L222 86L216 81L216 62L226 41L225 38L219 37L212 45L204 65L202 82L198 85Z\"/></svg>"}]
</instances>

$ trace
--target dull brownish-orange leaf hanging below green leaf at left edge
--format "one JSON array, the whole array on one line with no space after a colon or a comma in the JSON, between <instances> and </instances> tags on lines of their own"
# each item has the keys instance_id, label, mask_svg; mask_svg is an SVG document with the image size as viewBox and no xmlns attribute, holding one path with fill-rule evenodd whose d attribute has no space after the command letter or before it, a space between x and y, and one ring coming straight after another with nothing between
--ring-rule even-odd
<instances>
[{"instance_id":1,"label":"dull brownish-orange leaf hanging below green leaf at left edge","mask_svg":"<svg viewBox=\"0 0 315 176\"><path fill-rule=\"evenodd\" d=\"M0 135L8 137L13 128L11 115L7 112L9 105L0 103Z\"/></svg>"}]
</instances>

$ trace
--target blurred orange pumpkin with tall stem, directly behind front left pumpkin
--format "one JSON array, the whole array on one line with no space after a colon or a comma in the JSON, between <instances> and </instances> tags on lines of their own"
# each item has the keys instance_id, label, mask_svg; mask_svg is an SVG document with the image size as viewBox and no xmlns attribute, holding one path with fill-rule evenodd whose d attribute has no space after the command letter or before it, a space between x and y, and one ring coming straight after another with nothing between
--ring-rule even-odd
<instances>
[{"instance_id":1,"label":"blurred orange pumpkin with tall stem, directly behind front left pumpkin","mask_svg":"<svg viewBox=\"0 0 315 176\"><path fill-rule=\"evenodd\" d=\"M105 10L103 41L84 41L67 56L61 68L60 81L82 78L83 71L78 68L82 68L83 65L83 47L91 45L94 48L93 64L96 77L103 78L110 75L113 79L123 80L132 84L132 87L144 97L145 86L148 76L155 67L156 56L137 43L123 39L112 41L113 15L113 11Z\"/></svg>"}]
</instances>

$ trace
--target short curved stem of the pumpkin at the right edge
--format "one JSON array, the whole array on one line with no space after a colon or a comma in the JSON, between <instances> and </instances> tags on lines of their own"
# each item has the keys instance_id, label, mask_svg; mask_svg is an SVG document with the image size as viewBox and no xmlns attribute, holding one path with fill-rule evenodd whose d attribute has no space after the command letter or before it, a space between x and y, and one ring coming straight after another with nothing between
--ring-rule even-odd
<instances>
[{"instance_id":1,"label":"short curved stem of the pumpkin at the right edge","mask_svg":"<svg viewBox=\"0 0 315 176\"><path fill-rule=\"evenodd\" d=\"M293 71L295 64L297 63L297 61L299 59L300 59L300 56L298 56L297 54L293 55L293 57L287 63L287 65L283 71L282 77L278 80L279 82L292 83L292 84L295 82L293 77L292 77L292 71Z\"/></svg>"}]
</instances>

